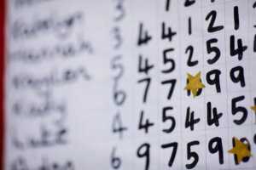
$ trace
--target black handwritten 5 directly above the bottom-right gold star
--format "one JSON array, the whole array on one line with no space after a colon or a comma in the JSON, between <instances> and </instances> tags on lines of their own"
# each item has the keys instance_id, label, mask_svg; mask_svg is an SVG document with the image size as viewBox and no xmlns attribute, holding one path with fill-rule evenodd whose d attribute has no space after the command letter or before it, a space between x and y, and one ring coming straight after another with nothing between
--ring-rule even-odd
<instances>
[{"instance_id":1,"label":"black handwritten 5 directly above the bottom-right gold star","mask_svg":"<svg viewBox=\"0 0 256 170\"><path fill-rule=\"evenodd\" d=\"M236 103L242 101L243 99L245 99L245 97L242 95L242 96L233 98L232 101L231 101L232 115L236 115L239 112L242 113L242 116L241 116L240 120L234 120L233 121L233 122L236 123L236 125L241 125L243 122L245 122L247 120L247 109L245 107L242 107L242 106L236 106Z\"/></svg>"}]
</instances>

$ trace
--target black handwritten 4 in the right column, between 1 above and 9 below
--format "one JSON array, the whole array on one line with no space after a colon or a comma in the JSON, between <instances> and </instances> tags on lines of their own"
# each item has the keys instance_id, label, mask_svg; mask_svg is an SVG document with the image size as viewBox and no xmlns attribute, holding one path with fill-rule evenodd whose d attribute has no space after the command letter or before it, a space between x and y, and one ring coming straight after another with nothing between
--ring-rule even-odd
<instances>
[{"instance_id":1,"label":"black handwritten 4 in the right column, between 1 above and 9 below","mask_svg":"<svg viewBox=\"0 0 256 170\"><path fill-rule=\"evenodd\" d=\"M243 52L247 50L247 46L242 46L242 41L239 38L237 40L237 48L235 49L235 36L230 36L230 56L235 56L238 54L238 59L241 60Z\"/></svg>"}]
</instances>

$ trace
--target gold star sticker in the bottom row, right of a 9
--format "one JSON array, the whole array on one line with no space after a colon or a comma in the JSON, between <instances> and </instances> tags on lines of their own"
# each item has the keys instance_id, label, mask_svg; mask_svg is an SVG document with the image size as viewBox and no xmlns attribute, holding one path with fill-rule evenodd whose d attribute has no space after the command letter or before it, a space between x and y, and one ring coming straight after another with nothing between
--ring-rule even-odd
<instances>
[{"instance_id":1,"label":"gold star sticker in the bottom row, right of a 9","mask_svg":"<svg viewBox=\"0 0 256 170\"><path fill-rule=\"evenodd\" d=\"M239 139L234 137L235 139L235 147L229 150L229 153L236 154L238 164L241 162L244 156L253 156L250 151L247 149L248 144L242 143Z\"/></svg>"}]
</instances>

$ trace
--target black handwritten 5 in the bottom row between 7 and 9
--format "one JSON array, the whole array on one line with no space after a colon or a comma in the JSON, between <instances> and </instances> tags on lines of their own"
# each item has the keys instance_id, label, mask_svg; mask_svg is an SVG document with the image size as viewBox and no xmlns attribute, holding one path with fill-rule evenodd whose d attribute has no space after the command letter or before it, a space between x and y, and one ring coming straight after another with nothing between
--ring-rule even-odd
<instances>
[{"instance_id":1,"label":"black handwritten 5 in the bottom row between 7 and 9","mask_svg":"<svg viewBox=\"0 0 256 170\"><path fill-rule=\"evenodd\" d=\"M187 144L187 159L188 160L190 160L190 158L194 158L194 161L192 161L191 163L189 163L189 164L186 164L186 167L187 167L187 169L192 169L192 168L194 168L195 166L196 166L196 164L197 164L197 162L199 161L199 156L198 156L198 154L195 152L195 151L191 151L191 147L193 146L193 145L198 145L198 144L200 144L200 142L199 141L197 141L197 140L195 140L195 141L192 141L192 142L189 142L188 144Z\"/></svg>"}]
</instances>

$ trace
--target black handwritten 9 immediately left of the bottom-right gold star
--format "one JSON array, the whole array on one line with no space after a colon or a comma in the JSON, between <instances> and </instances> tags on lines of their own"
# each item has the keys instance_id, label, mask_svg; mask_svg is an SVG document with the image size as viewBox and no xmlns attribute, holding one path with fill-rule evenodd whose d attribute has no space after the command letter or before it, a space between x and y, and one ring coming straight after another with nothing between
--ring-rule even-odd
<instances>
[{"instance_id":1,"label":"black handwritten 9 immediately left of the bottom-right gold star","mask_svg":"<svg viewBox=\"0 0 256 170\"><path fill-rule=\"evenodd\" d=\"M215 146L213 147L213 144ZM210 151L211 154L215 154L218 152L218 162L219 164L224 163L224 156L223 156L223 147L222 147L222 139L219 137L215 137L209 141L208 144L208 150Z\"/></svg>"}]
</instances>

